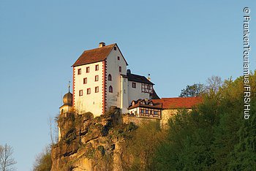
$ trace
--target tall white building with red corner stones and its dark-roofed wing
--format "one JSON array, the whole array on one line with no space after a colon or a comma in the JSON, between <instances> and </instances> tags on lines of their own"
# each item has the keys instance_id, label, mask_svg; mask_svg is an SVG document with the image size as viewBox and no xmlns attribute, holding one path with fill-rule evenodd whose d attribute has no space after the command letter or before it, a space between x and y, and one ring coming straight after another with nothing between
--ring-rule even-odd
<instances>
[{"instance_id":1,"label":"tall white building with red corner stones and its dark-roofed wing","mask_svg":"<svg viewBox=\"0 0 256 171\"><path fill-rule=\"evenodd\" d=\"M127 65L116 43L105 45L100 42L99 47L85 50L72 65L72 107L78 113L91 112L95 117L104 114L111 106L129 113L129 104L133 100L159 99L153 89L154 83L144 76L132 74ZM62 112L71 107L66 101L61 107Z\"/></svg>"}]
</instances>

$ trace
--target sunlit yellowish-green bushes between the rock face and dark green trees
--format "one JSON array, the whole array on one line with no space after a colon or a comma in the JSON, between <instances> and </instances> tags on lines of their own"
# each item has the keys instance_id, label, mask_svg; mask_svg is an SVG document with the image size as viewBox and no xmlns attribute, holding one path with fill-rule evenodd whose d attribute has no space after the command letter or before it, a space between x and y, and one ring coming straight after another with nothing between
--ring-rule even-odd
<instances>
[{"instance_id":1,"label":"sunlit yellowish-green bushes between the rock face and dark green trees","mask_svg":"<svg viewBox=\"0 0 256 171\"><path fill-rule=\"evenodd\" d=\"M132 125L131 125L132 128ZM133 128L132 128L133 129ZM127 170L152 170L153 154L159 142L164 138L159 123L151 121L142 123L132 136L124 144L124 156L129 158L127 163L123 163Z\"/></svg>"}]
</instances>

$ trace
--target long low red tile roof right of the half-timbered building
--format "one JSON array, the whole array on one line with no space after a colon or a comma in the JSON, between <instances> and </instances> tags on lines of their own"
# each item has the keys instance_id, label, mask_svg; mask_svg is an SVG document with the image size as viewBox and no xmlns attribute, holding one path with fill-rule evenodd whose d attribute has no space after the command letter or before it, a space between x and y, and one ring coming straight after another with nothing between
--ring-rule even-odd
<instances>
[{"instance_id":1,"label":"long low red tile roof right of the half-timbered building","mask_svg":"<svg viewBox=\"0 0 256 171\"><path fill-rule=\"evenodd\" d=\"M202 97L193 96L193 97L173 97L173 98L162 98L162 99L152 99L155 102L161 102L163 109L178 109L186 108L190 109L193 106L203 102Z\"/></svg>"}]
</instances>

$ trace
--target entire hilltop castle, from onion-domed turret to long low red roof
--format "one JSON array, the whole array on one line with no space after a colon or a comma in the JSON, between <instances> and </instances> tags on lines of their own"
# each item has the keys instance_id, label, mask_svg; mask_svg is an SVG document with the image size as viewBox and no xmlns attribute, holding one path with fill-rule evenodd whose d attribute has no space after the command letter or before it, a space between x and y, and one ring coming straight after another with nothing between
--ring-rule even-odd
<instances>
[{"instance_id":1,"label":"entire hilltop castle, from onion-domed turret to long low red roof","mask_svg":"<svg viewBox=\"0 0 256 171\"><path fill-rule=\"evenodd\" d=\"M202 101L200 97L162 98L154 91L150 78L135 75L127 69L127 61L118 45L105 45L85 50L72 65L72 93L64 95L61 113L72 108L77 113L91 112L94 117L110 107L133 118L159 119L167 123L179 108L191 109Z\"/></svg>"}]
</instances>

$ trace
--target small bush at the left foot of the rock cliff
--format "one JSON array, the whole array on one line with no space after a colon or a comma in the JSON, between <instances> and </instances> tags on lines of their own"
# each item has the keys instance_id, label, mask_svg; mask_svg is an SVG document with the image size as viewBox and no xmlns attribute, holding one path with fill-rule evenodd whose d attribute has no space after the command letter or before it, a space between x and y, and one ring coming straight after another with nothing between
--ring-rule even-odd
<instances>
[{"instance_id":1,"label":"small bush at the left foot of the rock cliff","mask_svg":"<svg viewBox=\"0 0 256 171\"><path fill-rule=\"evenodd\" d=\"M37 155L36 160L34 162L34 171L50 171L52 166L50 153L50 146L48 146Z\"/></svg>"}]
</instances>

